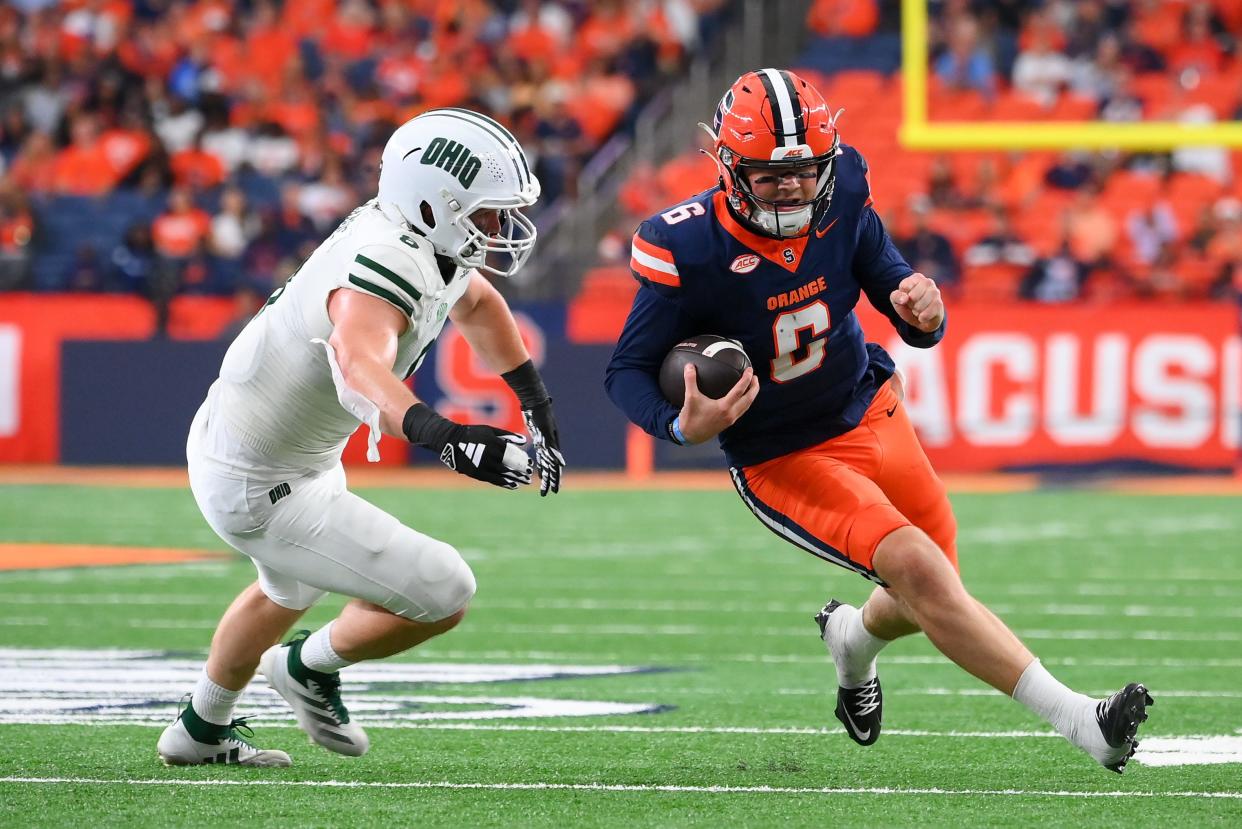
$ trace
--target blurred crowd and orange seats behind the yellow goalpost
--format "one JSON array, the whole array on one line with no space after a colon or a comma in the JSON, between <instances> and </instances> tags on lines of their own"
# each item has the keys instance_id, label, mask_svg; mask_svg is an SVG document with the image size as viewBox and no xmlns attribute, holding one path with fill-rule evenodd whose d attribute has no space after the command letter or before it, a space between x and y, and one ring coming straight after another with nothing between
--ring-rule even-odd
<instances>
[{"instance_id":1,"label":"blurred crowd and orange seats behind the yellow goalpost","mask_svg":"<svg viewBox=\"0 0 1242 829\"><path fill-rule=\"evenodd\" d=\"M800 71L845 108L842 138L914 267L966 298L1242 298L1242 152L905 150L895 73L815 68L843 39L881 48L894 5L816 0L807 26L825 40ZM929 20L933 121L1242 119L1237 0L932 0ZM605 265L642 218L715 183L699 149L633 174Z\"/></svg>"}]
</instances>

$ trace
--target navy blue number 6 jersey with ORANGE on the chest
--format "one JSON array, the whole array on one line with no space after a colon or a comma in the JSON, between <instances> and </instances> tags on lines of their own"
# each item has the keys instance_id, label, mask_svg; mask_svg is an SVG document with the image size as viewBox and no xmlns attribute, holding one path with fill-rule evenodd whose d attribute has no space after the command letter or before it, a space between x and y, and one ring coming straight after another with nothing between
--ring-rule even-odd
<instances>
[{"instance_id":1,"label":"navy blue number 6 jersey with ORANGE on the chest","mask_svg":"<svg viewBox=\"0 0 1242 829\"><path fill-rule=\"evenodd\" d=\"M630 420L669 439L677 409L660 392L668 350L696 334L741 343L759 377L754 405L720 434L730 466L805 449L858 425L893 360L863 339L861 293L902 339L924 333L897 316L889 293L913 272L871 206L867 163L842 145L832 203L810 234L776 240L749 231L724 193L707 190L638 226L631 271L640 282L605 385Z\"/></svg>"}]
</instances>

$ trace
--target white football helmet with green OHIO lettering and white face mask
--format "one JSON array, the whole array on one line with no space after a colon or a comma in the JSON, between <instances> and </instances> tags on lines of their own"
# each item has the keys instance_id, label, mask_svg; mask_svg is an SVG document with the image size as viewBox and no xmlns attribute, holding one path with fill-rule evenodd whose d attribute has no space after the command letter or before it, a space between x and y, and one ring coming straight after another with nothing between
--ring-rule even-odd
<instances>
[{"instance_id":1,"label":"white football helmet with green OHIO lettering and white face mask","mask_svg":"<svg viewBox=\"0 0 1242 829\"><path fill-rule=\"evenodd\" d=\"M469 109L431 109L405 122L384 147L379 201L426 236L441 256L461 267L513 276L535 244L535 226L522 215L539 198L539 179L508 129ZM498 210L501 232L488 236L471 220ZM488 263L503 254L508 266Z\"/></svg>"}]
</instances>

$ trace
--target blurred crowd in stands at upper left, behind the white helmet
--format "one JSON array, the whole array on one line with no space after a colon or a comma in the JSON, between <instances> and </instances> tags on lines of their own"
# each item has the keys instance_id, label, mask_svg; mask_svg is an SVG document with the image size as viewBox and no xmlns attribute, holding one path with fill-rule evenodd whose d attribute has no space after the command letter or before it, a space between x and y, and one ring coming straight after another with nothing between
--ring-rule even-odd
<instances>
[{"instance_id":1,"label":"blurred crowd in stands at upper left, behind the white helmet","mask_svg":"<svg viewBox=\"0 0 1242 829\"><path fill-rule=\"evenodd\" d=\"M0 290L266 295L435 107L504 122L546 205L725 0L0 4Z\"/></svg>"}]
</instances>

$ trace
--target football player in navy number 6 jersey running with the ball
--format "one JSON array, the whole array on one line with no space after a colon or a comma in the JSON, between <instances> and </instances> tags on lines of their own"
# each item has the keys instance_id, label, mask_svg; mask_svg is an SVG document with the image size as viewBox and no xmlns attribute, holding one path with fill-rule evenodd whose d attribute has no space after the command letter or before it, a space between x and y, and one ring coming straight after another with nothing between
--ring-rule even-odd
<instances>
[{"instance_id":1,"label":"football player in navy number 6 jersey running with the ball","mask_svg":"<svg viewBox=\"0 0 1242 829\"><path fill-rule=\"evenodd\" d=\"M862 608L832 600L815 616L836 664L836 716L854 742L879 737L877 655L922 630L1122 772L1151 705L1146 689L1131 682L1107 700L1072 691L961 583L945 487L902 406L893 360L864 341L853 311L866 295L903 341L930 348L944 336L944 302L884 231L867 163L841 143L838 116L792 72L748 72L729 87L709 129L718 186L633 236L640 288L607 368L609 395L657 437L718 436L764 526L877 584ZM755 368L713 400L687 365L678 410L660 392L660 365L704 333L739 341Z\"/></svg>"}]
</instances>

